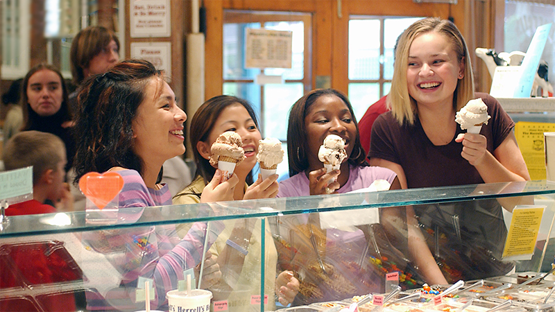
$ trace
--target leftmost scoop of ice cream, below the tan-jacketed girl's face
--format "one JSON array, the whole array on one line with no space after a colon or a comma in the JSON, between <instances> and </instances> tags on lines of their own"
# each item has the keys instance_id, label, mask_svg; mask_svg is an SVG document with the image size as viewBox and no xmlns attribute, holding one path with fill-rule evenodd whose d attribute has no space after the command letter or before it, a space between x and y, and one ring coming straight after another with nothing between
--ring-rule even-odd
<instances>
[{"instance_id":1,"label":"leftmost scoop of ice cream, below the tan-jacketed girl's face","mask_svg":"<svg viewBox=\"0 0 555 312\"><path fill-rule=\"evenodd\" d=\"M219 161L239 164L246 158L245 151L241 146L243 146L243 141L237 132L223 132L210 148L212 152L210 164L215 168L218 168Z\"/></svg>"}]
</instances>

